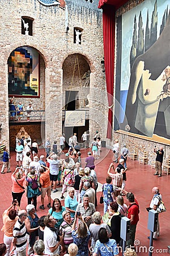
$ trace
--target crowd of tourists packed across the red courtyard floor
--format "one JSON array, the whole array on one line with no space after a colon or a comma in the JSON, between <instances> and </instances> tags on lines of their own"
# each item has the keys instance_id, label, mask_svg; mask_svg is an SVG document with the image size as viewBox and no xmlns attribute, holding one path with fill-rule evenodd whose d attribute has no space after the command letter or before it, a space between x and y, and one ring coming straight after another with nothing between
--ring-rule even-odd
<instances>
[{"instance_id":1,"label":"crowd of tourists packed across the red courtyard floor","mask_svg":"<svg viewBox=\"0 0 170 256\"><path fill-rule=\"evenodd\" d=\"M65 138L64 134L61 137ZM61 146L65 142L63 138ZM2 216L4 244L0 245L0 255L8 256L14 252L15 255L24 256L26 249L28 255L118 255L118 246L122 246L121 218L124 216L130 219L130 237L126 245L134 245L135 230L139 221L139 204L133 193L125 191L127 167L125 168L124 164L128 151L124 150L125 157L119 160L116 158L109 165L108 176L101 189L103 202L100 203L104 206L103 214L96 211L99 202L96 196L98 181L94 151L98 151L101 146L99 143L99 148L96 148L97 140L101 141L100 137L94 138L92 152L87 153L84 168L81 153L76 148L77 141L69 147L69 151L65 152L62 158L64 147L58 152L54 146L51 152L49 138L45 143L45 148L48 148L46 156L38 156L39 150L35 141L31 152L28 151L20 158L24 145L22 141L18 142L17 166L11 175L13 200ZM3 143L0 144L0 151L3 162L1 173L6 167L7 172L11 172L9 164L4 165L4 157L8 152ZM115 165L115 162L118 164ZM62 186L61 198L56 197L52 202L51 193L58 192L59 185ZM27 194L26 209L22 209L24 192ZM159 189L155 188L153 193L159 194ZM124 203L125 195L129 205ZM38 196L41 197L39 206ZM45 214L39 216L37 207L44 210ZM48 211L45 211L46 207L49 208ZM128 247L124 255L137 255Z\"/></svg>"}]
</instances>

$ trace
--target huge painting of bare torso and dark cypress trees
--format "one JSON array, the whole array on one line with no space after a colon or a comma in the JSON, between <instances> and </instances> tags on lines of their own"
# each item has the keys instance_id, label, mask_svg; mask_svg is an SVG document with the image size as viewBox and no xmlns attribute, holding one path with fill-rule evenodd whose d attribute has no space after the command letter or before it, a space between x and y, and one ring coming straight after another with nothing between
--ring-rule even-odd
<instances>
[{"instance_id":1,"label":"huge painting of bare torso and dark cypress trees","mask_svg":"<svg viewBox=\"0 0 170 256\"><path fill-rule=\"evenodd\" d=\"M170 139L169 0L142 2L118 17L114 130ZM128 125L127 125L128 123Z\"/></svg>"}]
</instances>

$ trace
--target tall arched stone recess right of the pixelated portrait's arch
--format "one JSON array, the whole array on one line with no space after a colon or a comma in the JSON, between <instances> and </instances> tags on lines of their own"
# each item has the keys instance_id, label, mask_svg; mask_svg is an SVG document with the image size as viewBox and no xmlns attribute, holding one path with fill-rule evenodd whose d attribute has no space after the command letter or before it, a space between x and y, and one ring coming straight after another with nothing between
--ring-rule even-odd
<instances>
[{"instance_id":1,"label":"tall arched stone recess right of the pixelated portrait's arch","mask_svg":"<svg viewBox=\"0 0 170 256\"><path fill-rule=\"evenodd\" d=\"M66 135L66 141L71 134L76 133L78 142L84 131L89 130L89 104L88 95L90 93L90 65L86 58L80 54L69 55L63 61L63 110L86 110L86 121L84 126L65 127L63 119L63 131Z\"/></svg>"}]
</instances>

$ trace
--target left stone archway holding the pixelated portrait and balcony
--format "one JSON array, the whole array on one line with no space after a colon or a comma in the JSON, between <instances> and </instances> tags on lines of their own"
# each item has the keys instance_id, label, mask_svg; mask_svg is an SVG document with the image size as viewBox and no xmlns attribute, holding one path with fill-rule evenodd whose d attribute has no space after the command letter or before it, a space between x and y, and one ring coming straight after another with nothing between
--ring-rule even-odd
<instances>
[{"instance_id":1,"label":"left stone archway holding the pixelated portrait and balcony","mask_svg":"<svg viewBox=\"0 0 170 256\"><path fill-rule=\"evenodd\" d=\"M8 98L14 96L13 103L19 101L27 109L32 104L30 122L27 122L27 112L23 112L18 122L17 111L14 118L9 115L10 150L15 148L15 135L21 127L29 132L31 139L37 139L42 144L42 133L45 134L45 122L42 116L45 111L45 61L41 53L33 47L21 46L14 49L8 57ZM38 111L37 111L38 110ZM36 130L36 133L35 133Z\"/></svg>"}]
</instances>

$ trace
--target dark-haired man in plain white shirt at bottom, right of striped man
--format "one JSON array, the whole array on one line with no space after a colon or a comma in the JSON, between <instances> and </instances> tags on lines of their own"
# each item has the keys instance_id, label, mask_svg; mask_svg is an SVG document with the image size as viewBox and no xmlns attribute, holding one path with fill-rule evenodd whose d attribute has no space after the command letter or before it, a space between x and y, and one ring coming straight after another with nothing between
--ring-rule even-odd
<instances>
[{"instance_id":1,"label":"dark-haired man in plain white shirt at bottom, right of striped man","mask_svg":"<svg viewBox=\"0 0 170 256\"><path fill-rule=\"evenodd\" d=\"M62 236L59 236L59 241L57 241L58 230L55 228L56 219L53 216L46 216L44 218L44 245L45 245L45 254L57 256L59 255L60 245L63 240Z\"/></svg>"}]
</instances>

